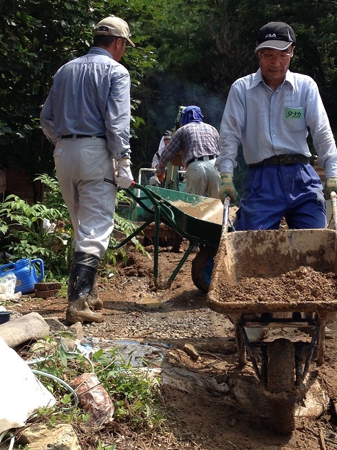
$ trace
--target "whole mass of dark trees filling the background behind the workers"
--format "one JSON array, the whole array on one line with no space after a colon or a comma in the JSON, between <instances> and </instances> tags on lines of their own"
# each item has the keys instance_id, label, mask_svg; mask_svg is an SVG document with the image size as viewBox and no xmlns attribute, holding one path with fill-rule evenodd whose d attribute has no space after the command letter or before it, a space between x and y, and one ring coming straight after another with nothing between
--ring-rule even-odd
<instances>
[{"instance_id":1,"label":"whole mass of dark trees filling the background behind the workers","mask_svg":"<svg viewBox=\"0 0 337 450\"><path fill-rule=\"evenodd\" d=\"M337 4L329 0L1 0L0 158L34 174L54 168L39 127L52 76L84 54L94 24L127 20L136 48L121 61L132 79L133 167L149 165L180 105L197 104L219 129L230 85L257 70L257 32L281 20L296 33L292 70L312 76L337 129Z\"/></svg>"}]
</instances>

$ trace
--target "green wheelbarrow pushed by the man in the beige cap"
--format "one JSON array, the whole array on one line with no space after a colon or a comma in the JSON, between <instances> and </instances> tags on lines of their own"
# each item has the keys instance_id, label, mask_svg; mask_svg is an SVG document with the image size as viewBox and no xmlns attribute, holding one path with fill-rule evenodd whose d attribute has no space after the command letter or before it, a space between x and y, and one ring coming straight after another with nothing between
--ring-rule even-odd
<instances>
[{"instance_id":1,"label":"green wheelbarrow pushed by the man in the beige cap","mask_svg":"<svg viewBox=\"0 0 337 450\"><path fill-rule=\"evenodd\" d=\"M223 216L221 201L216 198L186 194L185 192L177 192L162 187L144 186L138 183L133 183L126 192L144 209L149 218L135 229L132 234L120 243L113 245L112 248L118 249L122 247L154 222L153 282L155 287L157 289L168 289L171 287L173 280L191 254L193 247L195 244L199 244L200 250L193 259L191 275L195 286L207 292L212 272L213 257L217 252L221 236ZM138 195L136 192L138 192ZM177 267L175 267L173 274L164 282L160 280L158 265L160 223L164 223L189 242L188 249L183 254ZM210 267L208 267L208 263ZM204 271L208 271L207 276L205 276ZM207 277L209 278L208 280Z\"/></svg>"}]
</instances>

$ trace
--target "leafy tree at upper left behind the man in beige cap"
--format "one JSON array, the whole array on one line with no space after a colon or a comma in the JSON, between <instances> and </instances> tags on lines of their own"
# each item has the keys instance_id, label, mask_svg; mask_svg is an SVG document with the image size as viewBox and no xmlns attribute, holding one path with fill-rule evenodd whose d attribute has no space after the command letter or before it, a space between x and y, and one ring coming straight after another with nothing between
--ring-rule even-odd
<instances>
[{"instance_id":1,"label":"leafy tree at upper left behind the man in beige cap","mask_svg":"<svg viewBox=\"0 0 337 450\"><path fill-rule=\"evenodd\" d=\"M154 48L141 33L142 23L159 14L161 1L149 0L8 0L0 4L0 161L3 167L52 173L52 146L40 130L39 115L56 70L85 54L92 28L115 14L127 20L136 48L127 47L135 98L144 72L155 64ZM133 115L133 128L142 119ZM134 134L134 132L133 132Z\"/></svg>"}]
</instances>

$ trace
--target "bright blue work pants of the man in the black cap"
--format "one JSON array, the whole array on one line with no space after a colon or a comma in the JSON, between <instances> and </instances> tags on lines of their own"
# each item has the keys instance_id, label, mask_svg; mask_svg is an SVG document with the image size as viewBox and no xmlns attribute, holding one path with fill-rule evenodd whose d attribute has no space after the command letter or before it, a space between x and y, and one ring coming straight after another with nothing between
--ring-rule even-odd
<instances>
[{"instance_id":1,"label":"bright blue work pants of the man in the black cap","mask_svg":"<svg viewBox=\"0 0 337 450\"><path fill-rule=\"evenodd\" d=\"M235 230L278 229L283 217L290 229L326 227L323 187L314 168L309 163L249 167Z\"/></svg>"}]
</instances>

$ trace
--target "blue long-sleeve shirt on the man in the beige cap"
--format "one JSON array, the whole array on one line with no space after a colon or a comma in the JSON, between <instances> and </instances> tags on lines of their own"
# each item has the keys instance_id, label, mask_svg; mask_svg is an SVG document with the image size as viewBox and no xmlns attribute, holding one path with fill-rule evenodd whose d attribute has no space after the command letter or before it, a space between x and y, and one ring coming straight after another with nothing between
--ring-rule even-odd
<instances>
[{"instance_id":1,"label":"blue long-sleeve shirt on the man in the beige cap","mask_svg":"<svg viewBox=\"0 0 337 450\"><path fill-rule=\"evenodd\" d=\"M52 143L67 134L107 136L113 158L131 153L130 76L103 48L92 47L54 76L40 121Z\"/></svg>"}]
</instances>

